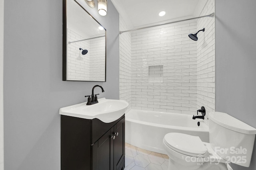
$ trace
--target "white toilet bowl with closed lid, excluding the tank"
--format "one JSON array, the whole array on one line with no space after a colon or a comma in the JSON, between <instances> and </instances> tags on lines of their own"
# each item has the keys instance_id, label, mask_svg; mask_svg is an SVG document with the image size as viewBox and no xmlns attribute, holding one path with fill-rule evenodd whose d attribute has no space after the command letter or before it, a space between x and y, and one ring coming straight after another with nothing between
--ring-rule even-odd
<instances>
[{"instance_id":1,"label":"white toilet bowl with closed lid, excluding the tank","mask_svg":"<svg viewBox=\"0 0 256 170\"><path fill-rule=\"evenodd\" d=\"M169 156L169 170L227 170L226 160L197 136L168 133L163 143Z\"/></svg>"}]
</instances>

